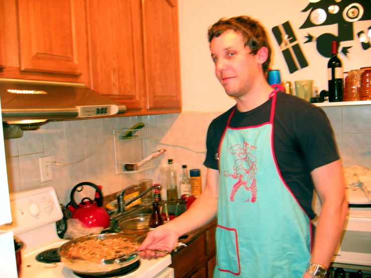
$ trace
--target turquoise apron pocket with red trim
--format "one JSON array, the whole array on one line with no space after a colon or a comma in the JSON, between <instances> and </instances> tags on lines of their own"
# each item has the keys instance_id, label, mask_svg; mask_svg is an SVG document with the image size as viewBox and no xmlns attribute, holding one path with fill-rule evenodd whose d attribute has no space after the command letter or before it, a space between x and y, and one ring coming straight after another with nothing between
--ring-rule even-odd
<instances>
[{"instance_id":1,"label":"turquoise apron pocket with red trim","mask_svg":"<svg viewBox=\"0 0 371 278\"><path fill-rule=\"evenodd\" d=\"M219 271L239 275L241 268L239 265L237 230L217 225L215 237L217 268Z\"/></svg>"}]
</instances>

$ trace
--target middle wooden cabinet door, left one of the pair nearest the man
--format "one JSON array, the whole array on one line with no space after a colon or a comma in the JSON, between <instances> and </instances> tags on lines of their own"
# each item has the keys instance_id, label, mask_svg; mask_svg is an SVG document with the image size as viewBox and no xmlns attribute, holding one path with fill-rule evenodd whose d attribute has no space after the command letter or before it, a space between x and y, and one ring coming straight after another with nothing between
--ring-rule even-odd
<instances>
[{"instance_id":1,"label":"middle wooden cabinet door, left one of the pair nearest the man","mask_svg":"<svg viewBox=\"0 0 371 278\"><path fill-rule=\"evenodd\" d=\"M140 0L87 1L91 87L130 109L144 104Z\"/></svg>"}]
</instances>

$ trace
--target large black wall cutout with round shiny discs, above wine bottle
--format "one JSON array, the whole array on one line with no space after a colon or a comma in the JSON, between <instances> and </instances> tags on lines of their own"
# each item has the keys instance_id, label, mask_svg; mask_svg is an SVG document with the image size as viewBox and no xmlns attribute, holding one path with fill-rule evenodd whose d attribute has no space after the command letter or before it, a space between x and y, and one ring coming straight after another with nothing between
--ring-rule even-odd
<instances>
[{"instance_id":1,"label":"large black wall cutout with round shiny discs, above wine bottle","mask_svg":"<svg viewBox=\"0 0 371 278\"><path fill-rule=\"evenodd\" d=\"M329 33L322 34L317 38L309 33L306 36L307 41L305 43L316 42L319 54L330 58L331 41L337 41L338 43L353 41L353 22L371 20L371 1L320 0L317 3L309 3L302 12L305 13L308 11L310 13L300 29L337 24L337 36ZM362 31L357 33L359 38ZM370 47L368 40L361 42L361 44L364 50ZM348 49L351 47L352 44L348 43L347 46L342 47L341 53L347 57Z\"/></svg>"}]
</instances>

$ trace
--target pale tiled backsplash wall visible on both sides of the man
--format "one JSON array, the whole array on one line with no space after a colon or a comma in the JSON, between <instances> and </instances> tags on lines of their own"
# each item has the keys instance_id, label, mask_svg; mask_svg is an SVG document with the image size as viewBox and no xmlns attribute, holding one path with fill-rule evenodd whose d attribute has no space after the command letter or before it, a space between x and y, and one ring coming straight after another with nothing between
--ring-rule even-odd
<instances>
[{"instance_id":1,"label":"pale tiled backsplash wall visible on both sides of the man","mask_svg":"<svg viewBox=\"0 0 371 278\"><path fill-rule=\"evenodd\" d=\"M371 105L349 107L323 107L334 129L335 140L344 167L353 164L371 168ZM155 160L160 166L174 159L178 180L182 177L182 165L188 169L201 169L205 186L206 132L211 120L222 111L200 113L174 113L149 116L116 117L89 120L73 120L48 123L38 131L25 131L24 137L5 141L10 191L53 186L60 201L69 201L71 189L79 182L90 181L103 186L103 195L118 192L142 178L152 178L161 183L158 168L137 174L116 174L118 161L138 162L152 152L166 149ZM156 136L144 140L114 142L113 138L90 158L69 166L53 166L54 179L41 183L39 157L51 156L59 164L76 162L96 150L113 130L130 128L143 121L145 127L155 127ZM116 151L116 153L115 153Z\"/></svg>"}]
</instances>

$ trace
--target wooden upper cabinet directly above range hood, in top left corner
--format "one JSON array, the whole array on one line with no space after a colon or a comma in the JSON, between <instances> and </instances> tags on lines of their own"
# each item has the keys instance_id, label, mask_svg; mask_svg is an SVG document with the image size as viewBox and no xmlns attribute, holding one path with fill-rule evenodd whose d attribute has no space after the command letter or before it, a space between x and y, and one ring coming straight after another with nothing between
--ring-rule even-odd
<instances>
[{"instance_id":1,"label":"wooden upper cabinet directly above range hood, in top left corner","mask_svg":"<svg viewBox=\"0 0 371 278\"><path fill-rule=\"evenodd\" d=\"M85 0L0 3L0 77L86 83Z\"/></svg>"}]
</instances>

